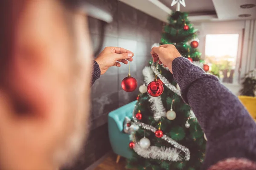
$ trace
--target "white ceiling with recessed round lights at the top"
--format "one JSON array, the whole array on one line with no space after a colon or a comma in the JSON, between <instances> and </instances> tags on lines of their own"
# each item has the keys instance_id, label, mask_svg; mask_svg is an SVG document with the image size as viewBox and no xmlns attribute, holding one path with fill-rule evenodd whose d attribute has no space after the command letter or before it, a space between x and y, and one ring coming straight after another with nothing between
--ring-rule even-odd
<instances>
[{"instance_id":1,"label":"white ceiling with recessed round lights at the top","mask_svg":"<svg viewBox=\"0 0 256 170\"><path fill-rule=\"evenodd\" d=\"M176 6L172 0L119 0L159 20L167 22L167 17ZM189 13L190 21L226 21L256 19L256 0L185 0L186 7L180 11ZM253 8L241 5L253 4ZM245 15L244 15L245 14ZM248 15L249 14L249 15ZM239 15L247 17L239 17Z\"/></svg>"}]
</instances>

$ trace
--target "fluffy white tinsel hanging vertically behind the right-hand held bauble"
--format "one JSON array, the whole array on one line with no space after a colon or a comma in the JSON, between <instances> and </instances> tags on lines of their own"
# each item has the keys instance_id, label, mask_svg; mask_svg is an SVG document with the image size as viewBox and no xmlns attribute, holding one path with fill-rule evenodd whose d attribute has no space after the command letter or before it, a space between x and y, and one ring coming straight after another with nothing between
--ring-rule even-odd
<instances>
[{"instance_id":1,"label":"fluffy white tinsel hanging vertically behind the right-hand held bauble","mask_svg":"<svg viewBox=\"0 0 256 170\"><path fill-rule=\"evenodd\" d=\"M143 76L145 77L145 83L148 85L150 82L154 81L154 75L153 71L151 70L150 67L145 67L142 71ZM154 114L154 120L158 121L161 119L161 117L166 117L166 110L163 107L163 103L161 100L161 97L152 97L148 94L149 96L149 102L151 103L151 109Z\"/></svg>"}]
</instances>

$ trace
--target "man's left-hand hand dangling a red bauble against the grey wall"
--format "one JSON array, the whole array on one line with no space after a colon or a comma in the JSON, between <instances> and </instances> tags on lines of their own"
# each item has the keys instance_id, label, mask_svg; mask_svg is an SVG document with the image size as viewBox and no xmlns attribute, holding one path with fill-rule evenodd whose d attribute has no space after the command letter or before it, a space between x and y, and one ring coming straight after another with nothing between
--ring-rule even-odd
<instances>
[{"instance_id":1,"label":"man's left-hand hand dangling a red bauble against the grey wall","mask_svg":"<svg viewBox=\"0 0 256 170\"><path fill-rule=\"evenodd\" d=\"M104 74L112 66L121 67L119 62L128 64L132 61L134 53L120 47L106 47L95 59L99 64L101 74Z\"/></svg>"}]
</instances>

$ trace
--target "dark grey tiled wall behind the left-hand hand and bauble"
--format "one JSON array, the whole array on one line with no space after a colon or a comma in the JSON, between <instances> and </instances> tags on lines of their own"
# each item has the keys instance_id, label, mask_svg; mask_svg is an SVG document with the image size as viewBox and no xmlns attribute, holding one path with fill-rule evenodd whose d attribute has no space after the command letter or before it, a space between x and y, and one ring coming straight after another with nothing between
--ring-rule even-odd
<instances>
[{"instance_id":1,"label":"dark grey tiled wall behind the left-hand hand and bauble","mask_svg":"<svg viewBox=\"0 0 256 170\"><path fill-rule=\"evenodd\" d=\"M131 76L143 84L142 70L151 58L151 45L160 42L162 22L118 0L89 0L111 11L113 23L106 26L102 49L119 46L134 52ZM90 36L94 50L98 48L102 33L101 22L89 17ZM96 54L97 55L97 54ZM90 135L84 145L84 153L73 169L84 170L111 150L108 139L108 113L136 100L138 88L132 93L122 90L122 79L127 77L128 65L112 67L92 87L92 111Z\"/></svg>"}]
</instances>

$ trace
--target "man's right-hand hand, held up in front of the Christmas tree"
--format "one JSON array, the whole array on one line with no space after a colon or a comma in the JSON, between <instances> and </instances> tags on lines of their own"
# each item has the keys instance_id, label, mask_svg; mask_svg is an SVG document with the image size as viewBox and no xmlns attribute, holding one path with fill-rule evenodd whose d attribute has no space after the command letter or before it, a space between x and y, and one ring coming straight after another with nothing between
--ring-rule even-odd
<instances>
[{"instance_id":1,"label":"man's right-hand hand, held up in front of the Christmas tree","mask_svg":"<svg viewBox=\"0 0 256 170\"><path fill-rule=\"evenodd\" d=\"M151 50L151 55L153 57L153 62L157 62L159 60L158 63L168 67L171 73L172 61L177 57L181 57L179 51L177 51L175 46L171 44L153 47Z\"/></svg>"}]
</instances>

